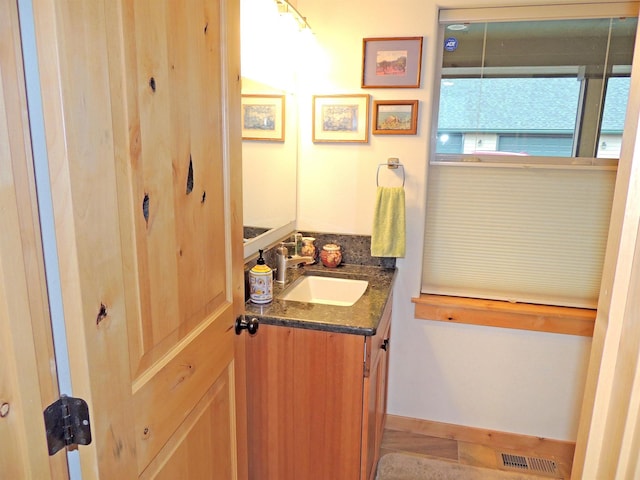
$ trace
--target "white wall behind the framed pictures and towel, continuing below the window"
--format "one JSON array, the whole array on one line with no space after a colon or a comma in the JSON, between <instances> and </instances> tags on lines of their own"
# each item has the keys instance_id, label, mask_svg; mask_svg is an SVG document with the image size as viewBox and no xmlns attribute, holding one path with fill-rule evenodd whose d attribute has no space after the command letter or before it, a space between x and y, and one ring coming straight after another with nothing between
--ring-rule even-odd
<instances>
[{"instance_id":1,"label":"white wall behind the framed pictures and towel, continuing below the window","mask_svg":"<svg viewBox=\"0 0 640 480\"><path fill-rule=\"evenodd\" d=\"M477 5L501 4L508 2L482 0ZM397 262L388 412L575 440L590 339L414 318L411 298L420 288L432 90L440 48L438 5L476 6L469 0L298 0L320 45L319 52L309 52L300 95L298 228L371 234L377 166L387 157L399 157L407 177L407 254ZM421 88L361 89L362 39L399 36L424 37ZM311 95L345 93L419 99L418 135L374 135L368 144L314 144Z\"/></svg>"}]
</instances>

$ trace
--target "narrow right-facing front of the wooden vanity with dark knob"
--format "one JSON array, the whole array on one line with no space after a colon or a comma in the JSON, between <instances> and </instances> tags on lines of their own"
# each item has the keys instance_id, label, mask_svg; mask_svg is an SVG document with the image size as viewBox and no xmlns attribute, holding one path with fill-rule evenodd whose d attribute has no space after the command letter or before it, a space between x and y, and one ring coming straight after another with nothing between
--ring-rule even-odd
<instances>
[{"instance_id":1,"label":"narrow right-facing front of the wooden vanity with dark knob","mask_svg":"<svg viewBox=\"0 0 640 480\"><path fill-rule=\"evenodd\" d=\"M391 304L380 321L375 336L367 337L362 429L361 480L373 480L380 457L380 445L387 411L387 376L389 367L389 334Z\"/></svg>"}]
</instances>

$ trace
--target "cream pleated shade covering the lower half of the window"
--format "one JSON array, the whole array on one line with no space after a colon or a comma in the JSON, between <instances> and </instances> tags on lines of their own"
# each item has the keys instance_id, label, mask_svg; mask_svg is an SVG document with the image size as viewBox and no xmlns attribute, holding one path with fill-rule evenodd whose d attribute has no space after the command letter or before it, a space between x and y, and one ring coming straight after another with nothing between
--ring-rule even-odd
<instances>
[{"instance_id":1,"label":"cream pleated shade covering the lower half of the window","mask_svg":"<svg viewBox=\"0 0 640 480\"><path fill-rule=\"evenodd\" d=\"M595 308L612 166L434 162L422 292Z\"/></svg>"}]
</instances>

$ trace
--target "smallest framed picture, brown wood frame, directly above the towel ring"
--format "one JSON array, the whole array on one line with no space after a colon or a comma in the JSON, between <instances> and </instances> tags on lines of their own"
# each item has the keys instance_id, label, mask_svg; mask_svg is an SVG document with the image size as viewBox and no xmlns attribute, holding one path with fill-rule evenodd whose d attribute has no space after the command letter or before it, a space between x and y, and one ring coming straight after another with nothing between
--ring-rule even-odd
<instances>
[{"instance_id":1,"label":"smallest framed picture, brown wood frame, directly above the towel ring","mask_svg":"<svg viewBox=\"0 0 640 480\"><path fill-rule=\"evenodd\" d=\"M418 100L375 100L374 135L415 135L418 131Z\"/></svg>"}]
</instances>

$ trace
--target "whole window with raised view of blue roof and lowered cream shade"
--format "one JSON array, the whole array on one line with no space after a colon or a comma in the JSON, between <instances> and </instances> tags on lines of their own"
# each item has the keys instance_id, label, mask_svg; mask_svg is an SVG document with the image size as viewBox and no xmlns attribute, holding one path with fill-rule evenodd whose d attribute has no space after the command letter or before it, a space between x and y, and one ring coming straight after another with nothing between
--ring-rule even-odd
<instances>
[{"instance_id":1,"label":"whole window with raised view of blue roof and lowered cream shade","mask_svg":"<svg viewBox=\"0 0 640 480\"><path fill-rule=\"evenodd\" d=\"M637 18L531 8L441 12L422 292L595 308Z\"/></svg>"}]
</instances>

